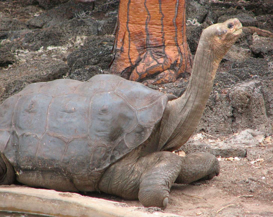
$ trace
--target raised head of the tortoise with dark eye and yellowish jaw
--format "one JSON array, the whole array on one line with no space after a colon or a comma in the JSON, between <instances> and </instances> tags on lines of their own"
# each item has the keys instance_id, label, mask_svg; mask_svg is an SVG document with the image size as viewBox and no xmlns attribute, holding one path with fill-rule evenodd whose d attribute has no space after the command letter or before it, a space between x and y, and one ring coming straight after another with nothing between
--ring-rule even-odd
<instances>
[{"instance_id":1,"label":"raised head of the tortoise with dark eye and yellowish jaw","mask_svg":"<svg viewBox=\"0 0 273 217\"><path fill-rule=\"evenodd\" d=\"M203 43L209 42L209 49L213 51L216 59L221 61L241 34L242 24L237 18L234 18L207 27L203 30L201 39Z\"/></svg>"}]
</instances>

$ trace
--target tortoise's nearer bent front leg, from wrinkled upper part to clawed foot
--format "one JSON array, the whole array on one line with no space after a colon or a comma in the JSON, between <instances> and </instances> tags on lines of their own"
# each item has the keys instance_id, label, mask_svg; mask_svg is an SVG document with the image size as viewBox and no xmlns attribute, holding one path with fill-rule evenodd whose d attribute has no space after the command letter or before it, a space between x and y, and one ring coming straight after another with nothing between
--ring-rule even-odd
<instances>
[{"instance_id":1,"label":"tortoise's nearer bent front leg, from wrinkled upper part to clawed foot","mask_svg":"<svg viewBox=\"0 0 273 217\"><path fill-rule=\"evenodd\" d=\"M99 190L126 199L139 198L143 206L164 209L181 163L181 158L172 152L155 152L141 158L135 152L103 173Z\"/></svg>"}]
</instances>

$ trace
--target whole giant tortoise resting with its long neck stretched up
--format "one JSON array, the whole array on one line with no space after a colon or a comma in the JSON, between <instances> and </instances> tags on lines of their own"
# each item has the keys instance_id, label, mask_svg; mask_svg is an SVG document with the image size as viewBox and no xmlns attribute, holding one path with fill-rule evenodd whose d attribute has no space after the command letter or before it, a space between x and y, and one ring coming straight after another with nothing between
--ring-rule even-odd
<instances>
[{"instance_id":1,"label":"whole giant tortoise resting with its long neck stretched up","mask_svg":"<svg viewBox=\"0 0 273 217\"><path fill-rule=\"evenodd\" d=\"M219 63L241 33L238 19L203 31L178 99L108 74L28 85L0 105L0 184L102 191L164 209L174 182L219 174L210 154L172 151L197 127Z\"/></svg>"}]
</instances>

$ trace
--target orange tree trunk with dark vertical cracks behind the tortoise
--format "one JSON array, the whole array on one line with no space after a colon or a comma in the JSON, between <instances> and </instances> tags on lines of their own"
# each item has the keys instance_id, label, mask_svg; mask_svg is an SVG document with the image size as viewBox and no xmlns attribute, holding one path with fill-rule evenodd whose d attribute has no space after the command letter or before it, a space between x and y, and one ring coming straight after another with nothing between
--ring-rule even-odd
<instances>
[{"instance_id":1,"label":"orange tree trunk with dark vertical cracks behind the tortoise","mask_svg":"<svg viewBox=\"0 0 273 217\"><path fill-rule=\"evenodd\" d=\"M121 0L110 72L143 83L190 72L185 0Z\"/></svg>"}]
</instances>

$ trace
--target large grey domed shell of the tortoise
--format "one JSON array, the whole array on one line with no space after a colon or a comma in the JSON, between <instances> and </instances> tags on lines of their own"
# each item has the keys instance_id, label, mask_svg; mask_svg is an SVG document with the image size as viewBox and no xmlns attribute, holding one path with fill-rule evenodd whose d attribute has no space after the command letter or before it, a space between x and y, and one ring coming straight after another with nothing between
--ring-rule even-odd
<instances>
[{"instance_id":1,"label":"large grey domed shell of the tortoise","mask_svg":"<svg viewBox=\"0 0 273 217\"><path fill-rule=\"evenodd\" d=\"M0 152L17 175L99 172L150 136L167 102L115 75L32 83L0 105Z\"/></svg>"}]
</instances>

